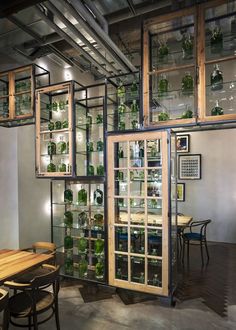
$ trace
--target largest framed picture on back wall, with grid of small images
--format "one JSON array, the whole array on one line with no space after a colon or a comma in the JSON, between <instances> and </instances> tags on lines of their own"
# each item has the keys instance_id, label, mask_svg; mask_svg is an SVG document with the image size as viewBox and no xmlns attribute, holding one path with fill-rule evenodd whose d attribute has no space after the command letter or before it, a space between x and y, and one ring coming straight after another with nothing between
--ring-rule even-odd
<instances>
[{"instance_id":1,"label":"largest framed picture on back wall, with grid of small images","mask_svg":"<svg viewBox=\"0 0 236 330\"><path fill-rule=\"evenodd\" d=\"M179 180L200 180L201 179L201 155L179 155L178 156L178 177Z\"/></svg>"}]
</instances>

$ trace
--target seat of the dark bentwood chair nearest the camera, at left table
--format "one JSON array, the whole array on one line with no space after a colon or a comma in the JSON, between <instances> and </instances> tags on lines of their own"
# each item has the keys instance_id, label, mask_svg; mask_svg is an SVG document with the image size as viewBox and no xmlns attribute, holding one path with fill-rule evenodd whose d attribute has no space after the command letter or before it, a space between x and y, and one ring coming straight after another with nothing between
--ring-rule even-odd
<instances>
[{"instance_id":1,"label":"seat of the dark bentwood chair nearest the camera, at left table","mask_svg":"<svg viewBox=\"0 0 236 330\"><path fill-rule=\"evenodd\" d=\"M52 306L53 294L48 291L40 290L35 293L36 312L42 313ZM32 315L32 300L27 292L21 292L9 299L9 310L13 317L25 317Z\"/></svg>"}]
</instances>

